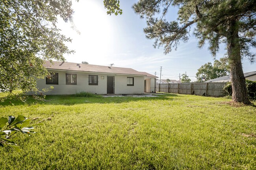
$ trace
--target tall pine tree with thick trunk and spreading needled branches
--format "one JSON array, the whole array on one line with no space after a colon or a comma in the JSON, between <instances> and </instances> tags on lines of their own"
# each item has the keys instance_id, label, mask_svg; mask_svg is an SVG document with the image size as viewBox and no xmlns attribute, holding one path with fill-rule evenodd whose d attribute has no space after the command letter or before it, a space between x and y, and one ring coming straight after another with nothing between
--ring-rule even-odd
<instances>
[{"instance_id":1,"label":"tall pine tree with thick trunk and spreading needled branches","mask_svg":"<svg viewBox=\"0 0 256 170\"><path fill-rule=\"evenodd\" d=\"M178 7L178 18L167 21L170 6ZM224 43L234 102L250 104L245 86L241 58L254 60L250 48L256 47L256 1L254 0L139 0L135 13L146 17L146 37L155 39L154 47L164 46L165 53L176 49L180 41L187 42L191 26L201 48L206 42L213 57ZM159 13L161 14L159 15ZM157 18L160 16L160 18Z\"/></svg>"}]
</instances>

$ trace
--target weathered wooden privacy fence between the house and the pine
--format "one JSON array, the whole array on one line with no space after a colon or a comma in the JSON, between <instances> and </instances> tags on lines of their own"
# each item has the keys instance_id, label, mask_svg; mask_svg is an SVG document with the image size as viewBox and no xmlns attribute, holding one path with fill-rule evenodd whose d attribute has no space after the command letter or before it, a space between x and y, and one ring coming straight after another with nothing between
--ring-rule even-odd
<instances>
[{"instance_id":1,"label":"weathered wooden privacy fence between the house and the pine","mask_svg":"<svg viewBox=\"0 0 256 170\"><path fill-rule=\"evenodd\" d=\"M166 93L223 96L226 82L162 83L156 84L156 91Z\"/></svg>"}]
</instances>

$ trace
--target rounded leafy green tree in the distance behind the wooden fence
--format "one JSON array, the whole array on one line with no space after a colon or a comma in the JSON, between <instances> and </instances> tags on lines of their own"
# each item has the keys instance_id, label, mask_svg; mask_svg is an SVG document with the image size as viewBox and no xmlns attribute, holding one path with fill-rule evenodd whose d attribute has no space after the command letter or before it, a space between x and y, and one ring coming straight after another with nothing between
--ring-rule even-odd
<instances>
[{"instance_id":1,"label":"rounded leafy green tree in the distance behind the wooden fence","mask_svg":"<svg viewBox=\"0 0 256 170\"><path fill-rule=\"evenodd\" d=\"M215 60L212 65L211 62L202 65L196 73L197 81L200 82L202 77L205 81L210 79L216 79L218 77L223 77L228 75L228 68L225 63L222 63L221 60Z\"/></svg>"}]
</instances>

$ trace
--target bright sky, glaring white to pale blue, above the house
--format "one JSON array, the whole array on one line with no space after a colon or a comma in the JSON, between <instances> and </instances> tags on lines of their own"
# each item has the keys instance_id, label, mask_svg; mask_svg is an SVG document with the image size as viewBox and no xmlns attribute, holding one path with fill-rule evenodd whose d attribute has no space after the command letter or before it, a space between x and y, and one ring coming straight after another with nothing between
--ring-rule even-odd
<instances>
[{"instance_id":1,"label":"bright sky, glaring white to pale blue, above the house","mask_svg":"<svg viewBox=\"0 0 256 170\"><path fill-rule=\"evenodd\" d=\"M163 66L161 79L179 79L187 72L191 80L196 80L197 69L207 62L213 63L213 58L207 49L197 48L197 39L191 37L187 43L180 43L178 49L165 55L163 48L155 49L154 40L145 37L143 28L145 19L140 19L132 10L136 0L120 0L122 15L107 15L103 0L74 1L73 20L80 35L71 28L70 23L59 19L58 27L61 33L72 38L67 43L69 49L76 53L66 55L67 62L87 61L89 64L108 66L114 63L116 67L133 68L137 71L157 73L160 77L160 66ZM176 18L177 9L169 11L168 19ZM217 59L223 57L224 46L221 47ZM249 60L243 61L243 71L256 71L256 64Z\"/></svg>"}]
</instances>

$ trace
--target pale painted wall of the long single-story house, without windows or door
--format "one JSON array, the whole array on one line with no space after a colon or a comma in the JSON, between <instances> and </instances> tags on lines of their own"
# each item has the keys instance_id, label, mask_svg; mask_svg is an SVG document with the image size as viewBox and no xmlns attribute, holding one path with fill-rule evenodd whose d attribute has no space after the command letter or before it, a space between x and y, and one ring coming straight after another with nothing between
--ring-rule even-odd
<instances>
[{"instance_id":1,"label":"pale painted wall of the long single-story house, without windows or door","mask_svg":"<svg viewBox=\"0 0 256 170\"><path fill-rule=\"evenodd\" d=\"M142 94L144 93L144 77L132 75L114 75L114 74L98 74L98 73L83 73L75 71L53 71L59 74L59 84L46 84L45 79L37 80L37 88L42 91L43 88L54 89L44 92L46 95L67 95L77 92L86 91L89 93L106 94L107 93L107 76L115 77L115 94ZM66 84L66 73L76 74L76 85ZM89 85L89 75L98 75L98 85ZM101 79L104 76L104 79ZM127 77L134 77L134 86L127 86Z\"/></svg>"}]
</instances>

